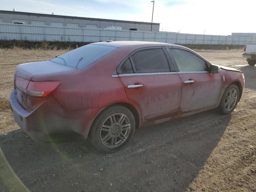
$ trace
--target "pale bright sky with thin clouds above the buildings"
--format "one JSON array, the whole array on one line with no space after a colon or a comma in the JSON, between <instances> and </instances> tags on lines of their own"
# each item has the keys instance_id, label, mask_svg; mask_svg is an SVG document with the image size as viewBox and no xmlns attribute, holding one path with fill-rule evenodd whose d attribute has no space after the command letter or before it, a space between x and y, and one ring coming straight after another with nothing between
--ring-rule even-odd
<instances>
[{"instance_id":1,"label":"pale bright sky with thin clouds above the buildings","mask_svg":"<svg viewBox=\"0 0 256 192\"><path fill-rule=\"evenodd\" d=\"M0 0L0 10L151 22L151 0ZM231 35L256 32L256 0L155 0L160 31Z\"/></svg>"}]
</instances>

